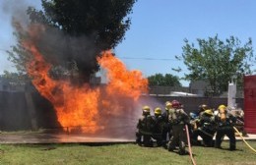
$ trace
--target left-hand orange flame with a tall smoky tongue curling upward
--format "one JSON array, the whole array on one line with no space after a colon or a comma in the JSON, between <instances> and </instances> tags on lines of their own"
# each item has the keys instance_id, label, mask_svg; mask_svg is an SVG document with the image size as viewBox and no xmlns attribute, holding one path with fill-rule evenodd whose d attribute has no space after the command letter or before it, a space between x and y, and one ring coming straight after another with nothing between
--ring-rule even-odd
<instances>
[{"instance_id":1,"label":"left-hand orange flame with a tall smoky tongue curling upward","mask_svg":"<svg viewBox=\"0 0 256 165\"><path fill-rule=\"evenodd\" d=\"M39 93L53 104L61 126L71 130L81 127L85 133L95 133L98 130L96 98L99 90L93 90L88 85L74 87L70 82L51 79L48 75L51 66L46 63L35 46L30 42L24 42L24 47L32 52L34 58L27 65L32 83Z\"/></svg>"}]
</instances>

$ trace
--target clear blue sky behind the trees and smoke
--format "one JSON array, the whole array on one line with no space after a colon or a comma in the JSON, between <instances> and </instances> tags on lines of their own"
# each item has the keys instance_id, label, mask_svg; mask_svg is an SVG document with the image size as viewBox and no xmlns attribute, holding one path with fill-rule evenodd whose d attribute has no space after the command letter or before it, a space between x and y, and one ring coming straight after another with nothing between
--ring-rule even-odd
<instances>
[{"instance_id":1,"label":"clear blue sky behind the trees and smoke","mask_svg":"<svg viewBox=\"0 0 256 165\"><path fill-rule=\"evenodd\" d=\"M0 74L15 71L4 51L15 44L10 11L4 5L10 1L41 8L40 0L0 0ZM182 54L185 38L197 45L197 38L216 34L222 40L235 36L242 44L251 37L256 48L255 0L138 0L129 17L132 25L114 52L129 70L140 70L145 77L188 74L183 62L175 59ZM171 70L178 67L181 73Z\"/></svg>"}]
</instances>

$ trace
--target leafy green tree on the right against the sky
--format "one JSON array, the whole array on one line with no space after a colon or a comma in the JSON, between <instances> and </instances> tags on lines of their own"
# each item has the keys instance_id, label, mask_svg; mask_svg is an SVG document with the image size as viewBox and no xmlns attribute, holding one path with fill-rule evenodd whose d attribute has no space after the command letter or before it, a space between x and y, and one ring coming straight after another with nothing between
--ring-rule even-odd
<instances>
[{"instance_id":1,"label":"leafy green tree on the right against the sky","mask_svg":"<svg viewBox=\"0 0 256 165\"><path fill-rule=\"evenodd\" d=\"M251 74L253 56L252 40L241 45L237 37L230 36L222 41L218 34L208 39L197 39L194 43L184 40L182 59L190 71L185 75L188 81L206 81L214 95L227 90L228 83L234 80L242 82L243 75Z\"/></svg>"}]
</instances>

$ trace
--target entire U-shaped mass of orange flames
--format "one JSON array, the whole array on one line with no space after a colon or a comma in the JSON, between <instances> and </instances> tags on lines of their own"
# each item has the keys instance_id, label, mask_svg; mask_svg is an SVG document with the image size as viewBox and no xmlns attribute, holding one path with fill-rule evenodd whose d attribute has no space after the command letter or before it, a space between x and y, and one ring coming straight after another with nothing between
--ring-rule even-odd
<instances>
[{"instance_id":1,"label":"entire U-shaped mass of orange flames","mask_svg":"<svg viewBox=\"0 0 256 165\"><path fill-rule=\"evenodd\" d=\"M109 115L117 117L127 109L121 99L137 101L141 93L148 92L148 80L143 78L142 73L127 71L110 51L102 52L101 57L97 58L109 79L103 90L99 86L74 86L69 81L52 79L49 76L52 66L32 41L39 37L38 30L43 32L44 28L32 25L28 32L29 39L23 41L24 48L32 54L26 69L35 88L54 106L57 120L63 128L69 128L70 131L79 128L83 133L96 133L109 124L109 120L106 120Z\"/></svg>"}]
</instances>

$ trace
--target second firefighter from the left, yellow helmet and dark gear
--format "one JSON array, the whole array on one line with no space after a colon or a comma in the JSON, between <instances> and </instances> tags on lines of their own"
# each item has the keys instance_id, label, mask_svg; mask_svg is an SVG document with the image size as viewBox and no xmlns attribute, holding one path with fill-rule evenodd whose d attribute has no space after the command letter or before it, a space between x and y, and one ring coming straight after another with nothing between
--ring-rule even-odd
<instances>
[{"instance_id":1,"label":"second firefighter from the left, yellow helmet and dark gear","mask_svg":"<svg viewBox=\"0 0 256 165\"><path fill-rule=\"evenodd\" d=\"M155 108L154 120L155 120L155 129L154 129L154 133L153 133L153 138L155 138L157 140L157 144L158 144L158 146L160 146L160 145L164 144L163 143L164 141L162 141L162 129L164 126L164 121L161 116L160 107Z\"/></svg>"}]
</instances>

